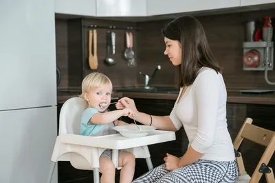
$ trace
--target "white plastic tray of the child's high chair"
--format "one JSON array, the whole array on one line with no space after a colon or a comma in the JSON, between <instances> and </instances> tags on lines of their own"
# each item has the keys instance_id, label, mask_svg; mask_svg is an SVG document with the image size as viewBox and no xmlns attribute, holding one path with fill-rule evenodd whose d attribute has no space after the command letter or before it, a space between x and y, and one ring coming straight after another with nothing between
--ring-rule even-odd
<instances>
[{"instance_id":1,"label":"white plastic tray of the child's high chair","mask_svg":"<svg viewBox=\"0 0 275 183\"><path fill-rule=\"evenodd\" d=\"M121 134L112 134L107 136L82 136L76 134L61 135L61 143L74 145L85 145L90 147L100 147L107 149L127 149L131 147L140 147L156 143L175 141L175 132L154 130L147 136L137 138L126 138Z\"/></svg>"}]
</instances>

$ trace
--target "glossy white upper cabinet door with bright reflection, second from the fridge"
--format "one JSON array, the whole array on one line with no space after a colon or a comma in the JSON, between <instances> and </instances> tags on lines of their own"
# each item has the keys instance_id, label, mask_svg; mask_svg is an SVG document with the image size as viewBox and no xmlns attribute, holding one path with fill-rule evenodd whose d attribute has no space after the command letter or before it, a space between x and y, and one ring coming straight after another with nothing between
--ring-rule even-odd
<instances>
[{"instance_id":1,"label":"glossy white upper cabinet door with bright reflection, second from the fridge","mask_svg":"<svg viewBox=\"0 0 275 183\"><path fill-rule=\"evenodd\" d=\"M146 16L146 0L98 0L96 16Z\"/></svg>"}]
</instances>

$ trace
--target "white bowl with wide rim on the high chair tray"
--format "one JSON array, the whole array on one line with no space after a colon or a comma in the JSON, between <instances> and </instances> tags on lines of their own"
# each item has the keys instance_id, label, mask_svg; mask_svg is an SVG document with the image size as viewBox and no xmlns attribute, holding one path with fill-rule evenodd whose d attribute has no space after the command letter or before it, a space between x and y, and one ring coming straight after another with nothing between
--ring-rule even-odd
<instances>
[{"instance_id":1,"label":"white bowl with wide rim on the high chair tray","mask_svg":"<svg viewBox=\"0 0 275 183\"><path fill-rule=\"evenodd\" d=\"M127 138L136 138L148 135L149 132L156 129L153 126L146 126L146 125L138 125L140 130L138 129L137 125L121 125L113 127L114 130L120 132L122 136Z\"/></svg>"}]
</instances>

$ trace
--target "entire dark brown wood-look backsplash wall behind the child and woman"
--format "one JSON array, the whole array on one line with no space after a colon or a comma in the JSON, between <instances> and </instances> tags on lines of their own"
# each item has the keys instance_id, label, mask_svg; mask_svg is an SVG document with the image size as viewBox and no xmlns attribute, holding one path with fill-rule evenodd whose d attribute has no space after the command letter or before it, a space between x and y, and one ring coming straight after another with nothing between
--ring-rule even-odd
<instances>
[{"instance_id":1,"label":"entire dark brown wood-look backsplash wall behind the child and woman","mask_svg":"<svg viewBox=\"0 0 275 183\"><path fill-rule=\"evenodd\" d=\"M261 21L263 16L275 16L274 10L244 12L223 15L197 16L201 21L215 58L223 67L223 77L229 90L243 88L274 88L266 84L263 71L243 71L243 41L245 21ZM85 75L91 72L88 64L88 31L82 25L116 25L120 27L141 27L133 31L135 61L137 66L130 68L123 59L125 49L125 31L115 30L114 66L104 64L107 54L106 33L108 29L98 29L98 69L94 71L108 75L115 87L137 86L144 84L144 76L151 75L157 64L152 84L175 85L176 68L164 56L164 38L162 27L170 20L133 23L131 21L107 21L100 19L56 19L56 59L61 69L61 84L58 89L79 88ZM273 21L273 19L272 19ZM273 23L275 26L275 21ZM84 41L84 42L83 42ZM269 79L275 82L275 71L268 72Z\"/></svg>"}]
</instances>

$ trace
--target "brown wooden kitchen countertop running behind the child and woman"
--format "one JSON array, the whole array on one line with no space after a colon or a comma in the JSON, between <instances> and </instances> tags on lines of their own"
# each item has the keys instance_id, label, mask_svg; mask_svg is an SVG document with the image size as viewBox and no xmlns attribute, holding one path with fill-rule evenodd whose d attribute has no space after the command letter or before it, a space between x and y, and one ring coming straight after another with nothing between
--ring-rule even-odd
<instances>
[{"instance_id":1,"label":"brown wooden kitchen countertop running behind the child and woman","mask_svg":"<svg viewBox=\"0 0 275 183\"><path fill-rule=\"evenodd\" d=\"M80 91L58 91L57 103L64 103L71 97L78 97ZM112 98L130 97L137 99L167 99L176 100L178 94L170 93L133 93L114 92ZM237 90L228 90L228 103L253 103L275 105L275 93L268 94L243 94Z\"/></svg>"}]
</instances>

